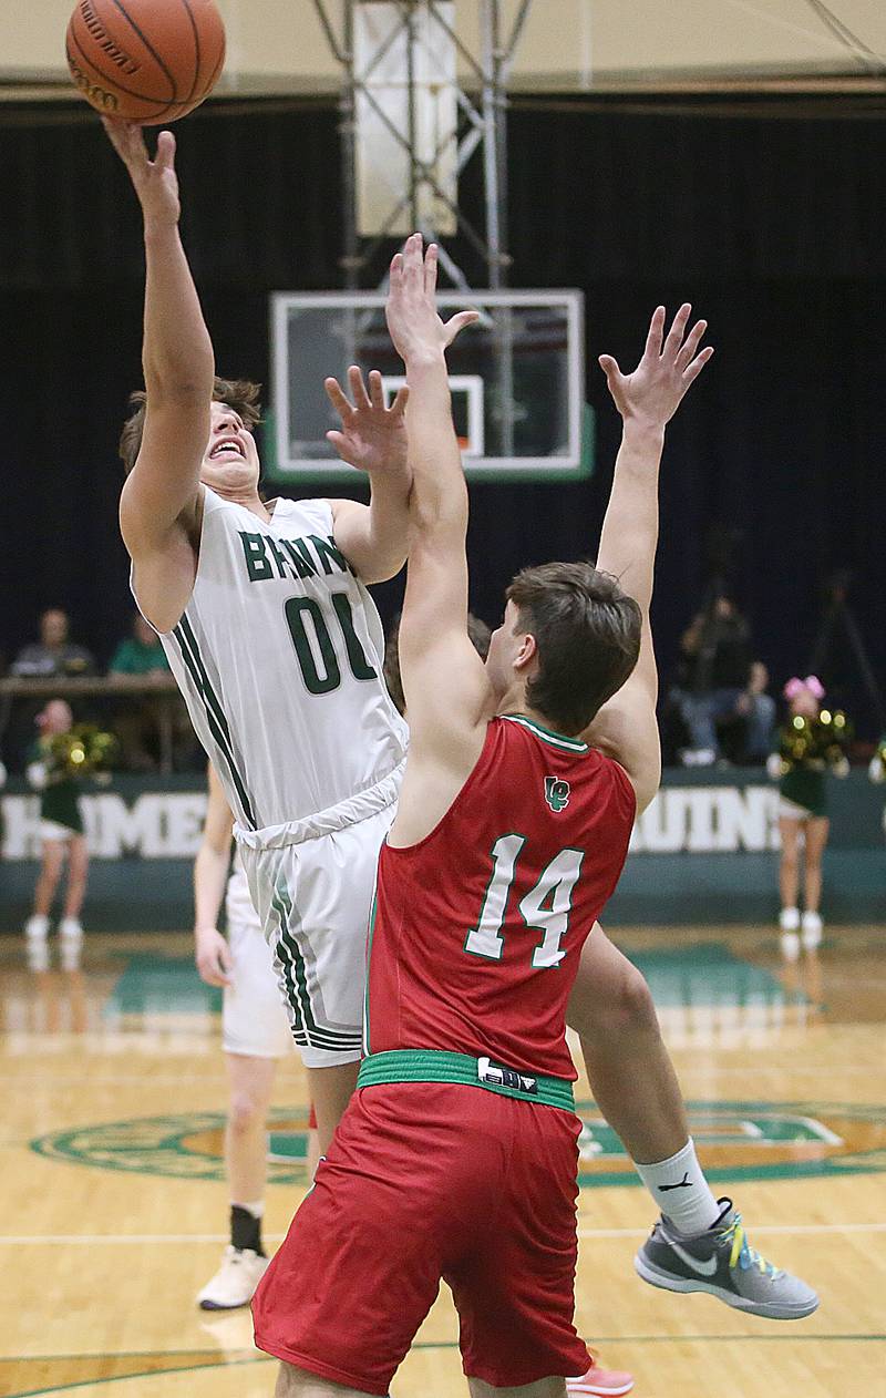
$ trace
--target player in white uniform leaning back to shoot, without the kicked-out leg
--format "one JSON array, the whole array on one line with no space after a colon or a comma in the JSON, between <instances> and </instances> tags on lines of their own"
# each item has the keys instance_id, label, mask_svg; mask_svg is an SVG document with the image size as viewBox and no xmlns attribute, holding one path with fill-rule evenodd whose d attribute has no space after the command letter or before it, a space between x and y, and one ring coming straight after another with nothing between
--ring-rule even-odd
<instances>
[{"instance_id":1,"label":"player in white uniform leaning back to shoot, without the kicked-out leg","mask_svg":"<svg viewBox=\"0 0 886 1398\"><path fill-rule=\"evenodd\" d=\"M369 475L369 506L266 506L254 390L215 379L179 238L175 140L161 133L151 161L138 127L105 124L147 254L147 394L122 438L133 590L233 811L324 1151L356 1081L375 867L405 755L365 586L405 559L405 394L386 410L380 376L368 394L356 369L354 405L330 384L331 440Z\"/></svg>"}]
</instances>

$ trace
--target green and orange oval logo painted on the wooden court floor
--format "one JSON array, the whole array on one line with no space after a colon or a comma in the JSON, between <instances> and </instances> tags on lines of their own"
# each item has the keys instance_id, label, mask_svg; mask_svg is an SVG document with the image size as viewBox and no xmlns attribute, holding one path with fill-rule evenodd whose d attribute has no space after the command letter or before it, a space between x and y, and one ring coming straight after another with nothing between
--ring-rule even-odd
<instances>
[{"instance_id":1,"label":"green and orange oval logo painted on the wooden court floor","mask_svg":"<svg viewBox=\"0 0 886 1398\"><path fill-rule=\"evenodd\" d=\"M591 1102L577 1106L584 1188L637 1184L615 1131ZM692 1135L711 1181L815 1179L886 1173L886 1107L825 1102L695 1102ZM143 1117L55 1131L31 1149L52 1160L99 1170L224 1180L221 1113ZM307 1114L271 1114L268 1180L305 1184Z\"/></svg>"}]
</instances>

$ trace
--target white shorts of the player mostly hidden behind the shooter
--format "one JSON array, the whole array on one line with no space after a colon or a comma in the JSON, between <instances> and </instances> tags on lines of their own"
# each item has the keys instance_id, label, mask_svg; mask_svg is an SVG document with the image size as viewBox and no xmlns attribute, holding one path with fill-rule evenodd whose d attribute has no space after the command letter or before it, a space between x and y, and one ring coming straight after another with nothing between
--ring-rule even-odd
<instances>
[{"instance_id":1,"label":"white shorts of the player mostly hidden behind the shooter","mask_svg":"<svg viewBox=\"0 0 886 1398\"><path fill-rule=\"evenodd\" d=\"M293 1051L295 1043L279 998L274 958L261 932L239 861L228 879L225 911L233 963L231 984L225 986L222 1001L225 1053L282 1058Z\"/></svg>"}]
</instances>

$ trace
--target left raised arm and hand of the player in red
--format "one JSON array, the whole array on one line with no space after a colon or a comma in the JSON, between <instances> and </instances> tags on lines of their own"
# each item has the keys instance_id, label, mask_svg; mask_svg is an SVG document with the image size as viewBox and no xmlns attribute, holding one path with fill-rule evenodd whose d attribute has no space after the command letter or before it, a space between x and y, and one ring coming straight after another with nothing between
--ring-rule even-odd
<instances>
[{"instance_id":1,"label":"left raised arm and hand of the player in red","mask_svg":"<svg viewBox=\"0 0 886 1398\"><path fill-rule=\"evenodd\" d=\"M468 639L468 493L453 426L446 350L477 319L444 324L436 310L437 250L421 235L391 263L387 323L407 366L412 495L409 563L400 622L400 667L411 763L463 773L482 745L489 685ZM407 776L408 780L408 776ZM402 807L401 807L402 808Z\"/></svg>"}]
</instances>

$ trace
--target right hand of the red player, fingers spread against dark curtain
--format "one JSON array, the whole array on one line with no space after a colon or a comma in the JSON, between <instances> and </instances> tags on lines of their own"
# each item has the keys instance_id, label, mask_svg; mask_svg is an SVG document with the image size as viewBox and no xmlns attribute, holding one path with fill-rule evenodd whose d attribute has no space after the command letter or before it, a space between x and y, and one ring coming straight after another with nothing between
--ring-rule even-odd
<instances>
[{"instance_id":1,"label":"right hand of the red player, fingers spread against dark curtain","mask_svg":"<svg viewBox=\"0 0 886 1398\"><path fill-rule=\"evenodd\" d=\"M655 310L646 350L633 373L622 373L612 355L600 356L600 368L607 376L615 405L627 422L634 419L646 426L664 428L676 412L683 394L695 383L713 355L713 350L699 345L707 322L699 320L686 334L692 306L683 305L664 340L665 309Z\"/></svg>"}]
</instances>

